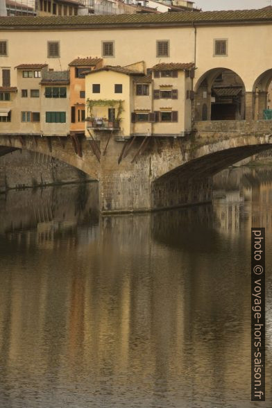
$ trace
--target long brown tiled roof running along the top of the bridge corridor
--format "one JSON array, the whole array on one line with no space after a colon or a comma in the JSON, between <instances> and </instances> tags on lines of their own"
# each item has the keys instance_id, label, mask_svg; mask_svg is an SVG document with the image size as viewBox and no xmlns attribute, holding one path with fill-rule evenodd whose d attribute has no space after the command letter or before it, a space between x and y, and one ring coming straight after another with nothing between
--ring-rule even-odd
<instances>
[{"instance_id":1,"label":"long brown tiled roof running along the top of the bridge corridor","mask_svg":"<svg viewBox=\"0 0 272 408\"><path fill-rule=\"evenodd\" d=\"M190 26L194 24L226 24L239 22L272 22L272 10L264 8L259 10L223 10L205 12L163 12L161 14L136 13L120 15L78 15L78 16L15 16L0 17L0 26L4 28L28 29L43 28L72 29L78 26L103 27L103 26L146 26L146 25L171 25Z\"/></svg>"}]
</instances>

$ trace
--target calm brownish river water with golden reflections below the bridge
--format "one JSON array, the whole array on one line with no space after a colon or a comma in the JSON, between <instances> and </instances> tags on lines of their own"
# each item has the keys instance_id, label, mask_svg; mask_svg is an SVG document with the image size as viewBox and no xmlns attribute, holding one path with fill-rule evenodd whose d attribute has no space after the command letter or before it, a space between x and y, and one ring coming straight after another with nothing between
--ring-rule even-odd
<instances>
[{"instance_id":1,"label":"calm brownish river water with golden reflections below the bridge","mask_svg":"<svg viewBox=\"0 0 272 408\"><path fill-rule=\"evenodd\" d=\"M214 203L99 218L97 184L0 196L1 408L272 407L272 169ZM266 402L250 402L250 228L266 227Z\"/></svg>"}]
</instances>

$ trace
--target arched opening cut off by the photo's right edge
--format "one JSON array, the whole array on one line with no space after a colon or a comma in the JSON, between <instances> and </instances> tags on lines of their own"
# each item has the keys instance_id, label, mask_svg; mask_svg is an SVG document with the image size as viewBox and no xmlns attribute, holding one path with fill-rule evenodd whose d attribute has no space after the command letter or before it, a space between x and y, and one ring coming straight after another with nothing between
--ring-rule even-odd
<instances>
[{"instance_id":1,"label":"arched opening cut off by the photo's right edge","mask_svg":"<svg viewBox=\"0 0 272 408\"><path fill-rule=\"evenodd\" d=\"M255 120L272 119L272 69L267 69L253 85L253 117ZM271 110L271 112L267 112Z\"/></svg>"}]
</instances>

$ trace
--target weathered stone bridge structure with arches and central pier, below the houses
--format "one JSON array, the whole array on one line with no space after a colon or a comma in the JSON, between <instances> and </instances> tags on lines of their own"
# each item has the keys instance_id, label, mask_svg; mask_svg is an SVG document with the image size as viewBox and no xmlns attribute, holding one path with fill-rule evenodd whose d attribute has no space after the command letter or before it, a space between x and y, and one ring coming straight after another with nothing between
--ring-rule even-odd
<instances>
[{"instance_id":1,"label":"weathered stone bridge structure with arches and central pier, below the houses","mask_svg":"<svg viewBox=\"0 0 272 408\"><path fill-rule=\"evenodd\" d=\"M17 148L98 180L102 214L149 211L210 202L215 173L272 148L272 121L198 121L191 135L176 138L0 136L0 155Z\"/></svg>"}]
</instances>

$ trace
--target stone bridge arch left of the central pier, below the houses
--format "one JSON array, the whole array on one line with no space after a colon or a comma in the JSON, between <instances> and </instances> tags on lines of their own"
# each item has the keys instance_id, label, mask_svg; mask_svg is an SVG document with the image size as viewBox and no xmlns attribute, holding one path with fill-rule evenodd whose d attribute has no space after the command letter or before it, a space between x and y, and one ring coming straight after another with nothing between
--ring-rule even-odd
<instances>
[{"instance_id":1,"label":"stone bridge arch left of the central pier, below the houses","mask_svg":"<svg viewBox=\"0 0 272 408\"><path fill-rule=\"evenodd\" d=\"M92 153L90 146L86 146L83 157L79 157L74 150L71 140L63 138L59 140L55 137L37 137L31 136L15 137L10 139L5 136L0 137L0 155L5 155L16 149L42 153L52 158L65 162L70 166L76 167L87 173L93 180L99 179L99 162ZM87 143L87 142L85 142Z\"/></svg>"}]
</instances>

